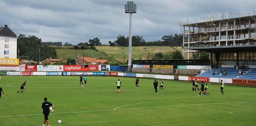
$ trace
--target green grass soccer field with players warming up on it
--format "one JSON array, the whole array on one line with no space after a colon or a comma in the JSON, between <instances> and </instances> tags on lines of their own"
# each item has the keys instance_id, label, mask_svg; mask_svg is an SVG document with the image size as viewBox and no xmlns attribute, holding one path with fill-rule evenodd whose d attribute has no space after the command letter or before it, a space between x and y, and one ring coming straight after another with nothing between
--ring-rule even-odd
<instances>
[{"instance_id":1,"label":"green grass soccer field with players warming up on it","mask_svg":"<svg viewBox=\"0 0 256 126\"><path fill-rule=\"evenodd\" d=\"M78 76L2 76L0 125L42 125L44 97L55 107L51 126L256 125L255 88L225 85L221 95L219 85L210 84L210 95L199 97L185 81L164 80L165 90L155 94L154 79L140 78L136 89L136 78L87 78L87 86L81 87ZM117 79L123 84L120 93ZM24 81L28 87L17 93Z\"/></svg>"}]
</instances>

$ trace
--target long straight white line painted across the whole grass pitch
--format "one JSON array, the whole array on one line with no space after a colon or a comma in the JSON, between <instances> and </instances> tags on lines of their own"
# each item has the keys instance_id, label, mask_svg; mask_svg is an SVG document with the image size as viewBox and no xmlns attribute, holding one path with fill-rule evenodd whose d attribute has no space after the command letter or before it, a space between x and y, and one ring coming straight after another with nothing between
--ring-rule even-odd
<instances>
[{"instance_id":1,"label":"long straight white line painted across the whole grass pitch","mask_svg":"<svg viewBox=\"0 0 256 126\"><path fill-rule=\"evenodd\" d=\"M51 114L82 113L82 112L95 112L95 111L117 111L117 110L127 110L127 109L162 108L162 107L193 106L193 105L211 105L211 104L255 103L255 102L256 102L256 101L225 102L225 103L222 102L222 103L205 103L205 104L186 104L186 105L170 105L170 106L156 106L156 107L139 107L139 108L122 108L122 109L90 110L90 111L78 111L78 112L59 112L59 113L51 113ZM42 114L6 115L6 116L0 116L0 117L31 116L31 115L42 115Z\"/></svg>"}]
</instances>

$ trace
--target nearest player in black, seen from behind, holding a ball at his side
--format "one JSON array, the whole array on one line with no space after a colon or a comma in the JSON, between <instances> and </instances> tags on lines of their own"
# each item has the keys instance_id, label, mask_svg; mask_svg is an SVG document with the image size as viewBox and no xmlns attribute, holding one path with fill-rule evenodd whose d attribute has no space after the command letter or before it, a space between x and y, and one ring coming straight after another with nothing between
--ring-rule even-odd
<instances>
[{"instance_id":1,"label":"nearest player in black, seen from behind, holding a ball at his side","mask_svg":"<svg viewBox=\"0 0 256 126\"><path fill-rule=\"evenodd\" d=\"M54 108L53 104L47 101L47 97L44 98L44 101L42 103L42 108L43 108L43 114L45 115L45 119L44 119L44 124L43 126L45 126L45 123L47 122L48 126L50 126L49 120L48 120L48 115L50 114L50 106Z\"/></svg>"}]
</instances>

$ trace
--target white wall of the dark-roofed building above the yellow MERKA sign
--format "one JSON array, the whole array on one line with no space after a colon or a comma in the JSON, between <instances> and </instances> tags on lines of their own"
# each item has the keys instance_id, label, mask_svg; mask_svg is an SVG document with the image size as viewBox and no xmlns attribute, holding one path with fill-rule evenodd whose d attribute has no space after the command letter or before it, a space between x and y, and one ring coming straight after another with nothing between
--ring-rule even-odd
<instances>
[{"instance_id":1,"label":"white wall of the dark-roofed building above the yellow MERKA sign","mask_svg":"<svg viewBox=\"0 0 256 126\"><path fill-rule=\"evenodd\" d=\"M9 42L5 42L5 38L9 38ZM5 44L8 44L9 48L5 48ZM9 54L5 55L4 50L8 50ZM17 58L17 38L0 36L0 58L4 57Z\"/></svg>"}]
</instances>

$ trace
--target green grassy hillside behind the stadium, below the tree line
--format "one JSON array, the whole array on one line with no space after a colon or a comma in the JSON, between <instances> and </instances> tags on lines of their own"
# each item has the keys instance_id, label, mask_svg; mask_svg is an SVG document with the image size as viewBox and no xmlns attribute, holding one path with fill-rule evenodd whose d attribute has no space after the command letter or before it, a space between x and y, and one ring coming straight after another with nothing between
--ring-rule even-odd
<instances>
[{"instance_id":1,"label":"green grassy hillside behind the stadium, below the tree line","mask_svg":"<svg viewBox=\"0 0 256 126\"><path fill-rule=\"evenodd\" d=\"M63 57L64 59L70 57L70 58L75 58L76 57L76 52L78 53L79 56L82 56L83 51L85 54L84 56L86 57L93 57L95 58L105 58L107 59L108 56L105 54L108 54L110 58L114 58L118 60L119 62L123 62L123 53L125 53L125 59L128 57L128 47L127 46L95 46L99 52L92 50L92 49L85 49L85 50L77 50L77 49L70 49L72 46L53 46L56 48L57 51L57 57L60 54L60 57ZM181 47L175 47L179 50L182 51ZM162 52L164 54L170 54L171 52L175 51L176 49L171 48L170 46L134 46L132 47L132 58L133 59L147 59L148 52L149 51L149 59L154 58L155 54L158 52ZM103 53L105 54L103 54Z\"/></svg>"}]
</instances>

